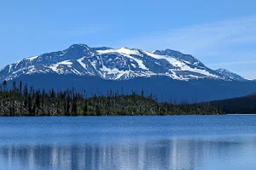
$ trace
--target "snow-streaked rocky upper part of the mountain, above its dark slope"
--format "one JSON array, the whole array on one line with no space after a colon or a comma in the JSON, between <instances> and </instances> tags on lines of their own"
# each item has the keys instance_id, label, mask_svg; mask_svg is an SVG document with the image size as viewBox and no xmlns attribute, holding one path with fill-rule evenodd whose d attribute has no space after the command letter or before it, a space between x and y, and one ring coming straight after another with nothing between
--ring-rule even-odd
<instances>
[{"instance_id":1,"label":"snow-streaked rocky upper part of the mountain, above its dark slope","mask_svg":"<svg viewBox=\"0 0 256 170\"><path fill-rule=\"evenodd\" d=\"M74 44L63 51L22 59L0 70L0 80L22 75L56 73L128 80L134 77L170 77L174 80L230 80L230 75L212 71L191 55L166 49L147 52L134 48L90 48Z\"/></svg>"}]
</instances>

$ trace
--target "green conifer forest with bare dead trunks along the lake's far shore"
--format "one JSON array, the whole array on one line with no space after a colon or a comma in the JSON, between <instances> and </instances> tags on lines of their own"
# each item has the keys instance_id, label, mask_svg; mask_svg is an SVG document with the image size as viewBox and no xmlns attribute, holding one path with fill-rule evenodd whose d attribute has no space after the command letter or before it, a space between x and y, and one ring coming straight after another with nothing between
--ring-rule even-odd
<instances>
[{"instance_id":1,"label":"green conifer forest with bare dead trunks along the lake's far shore","mask_svg":"<svg viewBox=\"0 0 256 170\"><path fill-rule=\"evenodd\" d=\"M0 116L167 116L224 114L218 106L158 102L154 94L123 94L108 91L107 95L79 93L76 89L55 91L28 87L23 82L4 81L0 85ZM12 88L8 88L12 87Z\"/></svg>"}]
</instances>

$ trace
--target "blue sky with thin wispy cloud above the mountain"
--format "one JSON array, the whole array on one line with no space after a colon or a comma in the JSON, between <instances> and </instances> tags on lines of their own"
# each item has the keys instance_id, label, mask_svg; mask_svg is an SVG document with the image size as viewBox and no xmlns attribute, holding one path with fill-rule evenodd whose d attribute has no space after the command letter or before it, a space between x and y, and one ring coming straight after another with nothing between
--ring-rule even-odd
<instances>
[{"instance_id":1,"label":"blue sky with thin wispy cloud above the mountain","mask_svg":"<svg viewBox=\"0 0 256 170\"><path fill-rule=\"evenodd\" d=\"M9 0L0 5L0 67L73 43L172 48L256 78L254 0Z\"/></svg>"}]
</instances>

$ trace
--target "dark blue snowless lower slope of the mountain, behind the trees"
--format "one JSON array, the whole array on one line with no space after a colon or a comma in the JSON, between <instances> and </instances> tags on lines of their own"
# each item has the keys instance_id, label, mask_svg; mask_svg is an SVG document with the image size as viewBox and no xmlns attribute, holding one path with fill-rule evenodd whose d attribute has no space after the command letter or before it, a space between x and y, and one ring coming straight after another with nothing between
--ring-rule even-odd
<instances>
[{"instance_id":1,"label":"dark blue snowless lower slope of the mountain, behind the trees","mask_svg":"<svg viewBox=\"0 0 256 170\"><path fill-rule=\"evenodd\" d=\"M104 80L101 77L80 77L73 75L41 74L24 75L16 82L27 82L35 88L54 88L56 90L76 88L87 94L107 94L110 90L124 94L132 91L154 94L162 101L200 102L214 99L228 99L252 94L256 91L255 82L223 81L201 79L190 81L172 80L170 77L137 77L125 81ZM9 82L10 88L12 83Z\"/></svg>"}]
</instances>

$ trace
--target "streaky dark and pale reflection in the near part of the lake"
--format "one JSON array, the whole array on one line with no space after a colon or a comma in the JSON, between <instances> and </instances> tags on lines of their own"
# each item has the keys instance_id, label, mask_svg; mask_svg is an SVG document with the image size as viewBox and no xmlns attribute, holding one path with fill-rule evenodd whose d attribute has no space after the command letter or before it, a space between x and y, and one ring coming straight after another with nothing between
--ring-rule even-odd
<instances>
[{"instance_id":1,"label":"streaky dark and pale reflection in the near part of the lake","mask_svg":"<svg viewBox=\"0 0 256 170\"><path fill-rule=\"evenodd\" d=\"M5 145L2 169L172 169L201 167L256 149L256 139L173 139L127 144ZM255 154L255 153L253 153ZM256 156L256 155L255 155Z\"/></svg>"}]
</instances>

